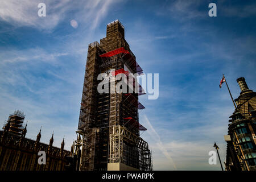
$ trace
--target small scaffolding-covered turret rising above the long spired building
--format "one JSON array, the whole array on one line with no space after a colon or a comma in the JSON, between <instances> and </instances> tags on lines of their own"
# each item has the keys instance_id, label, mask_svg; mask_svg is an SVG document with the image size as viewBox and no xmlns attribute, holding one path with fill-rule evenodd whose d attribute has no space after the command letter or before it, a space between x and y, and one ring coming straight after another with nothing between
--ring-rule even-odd
<instances>
[{"instance_id":1,"label":"small scaffolding-covered turret rising above the long spired building","mask_svg":"<svg viewBox=\"0 0 256 182\"><path fill-rule=\"evenodd\" d=\"M20 136L22 135L22 131L24 130L23 122L25 119L25 114L22 111L16 110L13 114L9 115L8 120L3 125L3 130L5 130L5 127L7 123L10 124L9 127L9 133L12 133L14 135Z\"/></svg>"}]
</instances>

